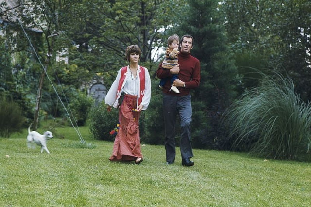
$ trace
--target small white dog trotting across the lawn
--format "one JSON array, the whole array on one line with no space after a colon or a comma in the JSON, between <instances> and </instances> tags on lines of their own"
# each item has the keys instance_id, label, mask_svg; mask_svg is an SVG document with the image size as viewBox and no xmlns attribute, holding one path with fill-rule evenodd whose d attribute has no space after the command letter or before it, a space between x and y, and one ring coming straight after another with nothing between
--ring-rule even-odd
<instances>
[{"instance_id":1,"label":"small white dog trotting across the lawn","mask_svg":"<svg viewBox=\"0 0 311 207\"><path fill-rule=\"evenodd\" d=\"M53 138L51 131L45 131L43 134L39 134L36 131L30 131L30 126L28 127L28 148L31 148L31 143L36 143L37 145L41 146L41 153L43 152L43 150L45 150L47 153L50 154L47 148L47 140L49 140L50 138Z\"/></svg>"}]
</instances>

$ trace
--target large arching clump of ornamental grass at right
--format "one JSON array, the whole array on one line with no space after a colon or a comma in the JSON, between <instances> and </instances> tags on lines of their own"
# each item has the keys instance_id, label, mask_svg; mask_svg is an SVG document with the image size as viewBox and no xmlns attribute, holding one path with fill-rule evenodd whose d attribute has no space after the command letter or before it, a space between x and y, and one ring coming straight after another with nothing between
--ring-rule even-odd
<instances>
[{"instance_id":1,"label":"large arching clump of ornamental grass at right","mask_svg":"<svg viewBox=\"0 0 311 207\"><path fill-rule=\"evenodd\" d=\"M226 112L233 150L272 159L311 161L311 106L294 92L292 80L263 75Z\"/></svg>"}]
</instances>

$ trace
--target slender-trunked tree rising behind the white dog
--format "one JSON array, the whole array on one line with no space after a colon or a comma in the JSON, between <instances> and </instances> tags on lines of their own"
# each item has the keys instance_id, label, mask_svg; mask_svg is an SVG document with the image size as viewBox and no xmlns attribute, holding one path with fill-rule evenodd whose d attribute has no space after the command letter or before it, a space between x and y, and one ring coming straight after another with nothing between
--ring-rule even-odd
<instances>
[{"instance_id":1,"label":"slender-trunked tree rising behind the white dog","mask_svg":"<svg viewBox=\"0 0 311 207\"><path fill-rule=\"evenodd\" d=\"M20 26L19 30L16 27L15 32L21 37L17 39L17 44L23 47L16 47L19 50L26 50L33 53L36 60L41 64L41 75L39 78L38 91L35 104L35 115L33 127L36 128L39 119L39 111L42 98L43 82L48 68L52 69L52 64L55 62L51 57L56 56L57 51L62 49L62 44L57 44L56 39L52 38L61 31L64 23L68 22L68 14L70 14L71 7L80 2L79 0L25 0L15 8L9 8L8 17L9 22ZM28 35L29 31L42 32L42 38L38 38L39 42L34 44L33 35ZM24 34L25 33L25 34ZM58 33L57 33L58 34ZM26 38L27 37L27 38ZM30 37L30 39L28 39ZM11 36L11 39L12 38ZM28 41L30 40L30 41Z\"/></svg>"}]
</instances>

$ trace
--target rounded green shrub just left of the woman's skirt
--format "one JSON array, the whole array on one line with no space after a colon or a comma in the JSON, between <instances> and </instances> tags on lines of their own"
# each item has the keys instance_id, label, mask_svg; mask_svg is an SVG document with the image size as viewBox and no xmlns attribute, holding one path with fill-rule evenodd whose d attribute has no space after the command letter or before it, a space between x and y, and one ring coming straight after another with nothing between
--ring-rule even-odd
<instances>
[{"instance_id":1,"label":"rounded green shrub just left of the woman's skirt","mask_svg":"<svg viewBox=\"0 0 311 207\"><path fill-rule=\"evenodd\" d=\"M113 141L115 136L109 132L118 124L118 109L112 108L107 112L106 105L102 101L91 108L89 112L89 128L92 137L97 140Z\"/></svg>"}]
</instances>

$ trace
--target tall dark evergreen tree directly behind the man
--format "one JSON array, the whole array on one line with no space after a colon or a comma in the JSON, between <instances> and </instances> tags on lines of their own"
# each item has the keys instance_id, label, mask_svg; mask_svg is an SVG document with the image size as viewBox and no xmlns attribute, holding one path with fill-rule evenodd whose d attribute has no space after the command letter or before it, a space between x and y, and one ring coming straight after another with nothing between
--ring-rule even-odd
<instances>
[{"instance_id":1,"label":"tall dark evergreen tree directly behind the man","mask_svg":"<svg viewBox=\"0 0 311 207\"><path fill-rule=\"evenodd\" d=\"M226 45L225 28L216 0L188 0L176 33L194 38L191 54L201 62L200 87L192 93L192 143L194 147L219 148L224 136L222 113L236 96L237 69Z\"/></svg>"}]
</instances>

